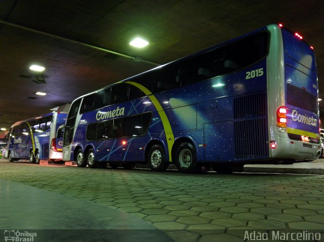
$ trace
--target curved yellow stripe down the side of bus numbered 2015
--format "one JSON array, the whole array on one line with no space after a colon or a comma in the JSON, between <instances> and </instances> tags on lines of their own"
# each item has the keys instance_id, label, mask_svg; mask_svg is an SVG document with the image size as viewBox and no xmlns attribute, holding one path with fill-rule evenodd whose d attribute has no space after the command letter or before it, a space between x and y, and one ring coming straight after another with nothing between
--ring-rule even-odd
<instances>
[{"instance_id":1,"label":"curved yellow stripe down the side of bus numbered 2015","mask_svg":"<svg viewBox=\"0 0 324 242\"><path fill-rule=\"evenodd\" d=\"M154 95L151 95L152 93L147 88L145 88L143 85L138 84L138 83L134 83L134 82L126 82L126 83L129 83L129 84L137 87L143 93L145 93L145 95L148 95L149 99L152 101L153 105L155 106L158 114L160 115L164 130L165 130L165 133L166 133L168 150L169 150L169 162L172 162L171 150L172 150L172 145L174 143L174 135L173 135L173 132L172 132L172 128L171 128L169 119L167 117L167 114L163 110L163 107L158 102L156 97Z\"/></svg>"}]
</instances>

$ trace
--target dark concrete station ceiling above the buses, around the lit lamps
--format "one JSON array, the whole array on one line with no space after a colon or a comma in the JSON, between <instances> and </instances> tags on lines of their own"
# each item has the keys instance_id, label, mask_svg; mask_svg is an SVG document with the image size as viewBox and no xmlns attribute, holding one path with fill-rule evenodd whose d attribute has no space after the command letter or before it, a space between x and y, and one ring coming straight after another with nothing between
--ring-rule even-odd
<instances>
[{"instance_id":1,"label":"dark concrete station ceiling above the buses, around the lit lamps","mask_svg":"<svg viewBox=\"0 0 324 242\"><path fill-rule=\"evenodd\" d=\"M323 13L322 0L1 0L0 127L271 23L284 23L314 47L324 98ZM137 35L149 46L131 47ZM32 82L34 63L46 67L46 84Z\"/></svg>"}]
</instances>

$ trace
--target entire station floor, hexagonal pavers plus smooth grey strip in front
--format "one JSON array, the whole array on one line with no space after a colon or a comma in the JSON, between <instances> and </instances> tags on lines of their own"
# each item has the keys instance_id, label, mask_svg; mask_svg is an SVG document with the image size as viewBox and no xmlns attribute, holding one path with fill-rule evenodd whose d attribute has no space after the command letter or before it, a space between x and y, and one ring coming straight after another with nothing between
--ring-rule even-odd
<instances>
[{"instance_id":1,"label":"entire station floor, hexagonal pavers plus smooth grey strip in front","mask_svg":"<svg viewBox=\"0 0 324 242\"><path fill-rule=\"evenodd\" d=\"M273 166L181 174L0 159L0 233L33 232L35 242L235 242L247 231L281 241L270 236L278 230L323 241L324 159Z\"/></svg>"}]
</instances>

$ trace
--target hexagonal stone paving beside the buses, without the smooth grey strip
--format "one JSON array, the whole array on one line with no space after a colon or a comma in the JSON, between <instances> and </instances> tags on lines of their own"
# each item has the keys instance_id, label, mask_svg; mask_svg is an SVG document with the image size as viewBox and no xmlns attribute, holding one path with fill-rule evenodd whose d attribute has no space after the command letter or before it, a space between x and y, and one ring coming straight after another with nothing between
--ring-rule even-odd
<instances>
[{"instance_id":1,"label":"hexagonal stone paving beside the buses, without the smooth grey strip","mask_svg":"<svg viewBox=\"0 0 324 242\"><path fill-rule=\"evenodd\" d=\"M248 229L314 229L324 237L322 175L154 173L0 162L0 178L133 213L175 241L242 241Z\"/></svg>"}]
</instances>

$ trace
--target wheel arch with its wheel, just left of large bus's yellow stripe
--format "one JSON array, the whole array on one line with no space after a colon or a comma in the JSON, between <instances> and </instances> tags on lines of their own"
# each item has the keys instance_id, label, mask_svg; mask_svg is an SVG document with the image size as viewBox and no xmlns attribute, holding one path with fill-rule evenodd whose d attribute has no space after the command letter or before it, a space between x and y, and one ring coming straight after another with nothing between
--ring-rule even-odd
<instances>
[{"instance_id":1,"label":"wheel arch with its wheel, just left of large bus's yellow stripe","mask_svg":"<svg viewBox=\"0 0 324 242\"><path fill-rule=\"evenodd\" d=\"M150 169L154 172L164 172L169 167L164 145L158 140L153 140L147 145L145 159Z\"/></svg>"}]
</instances>

